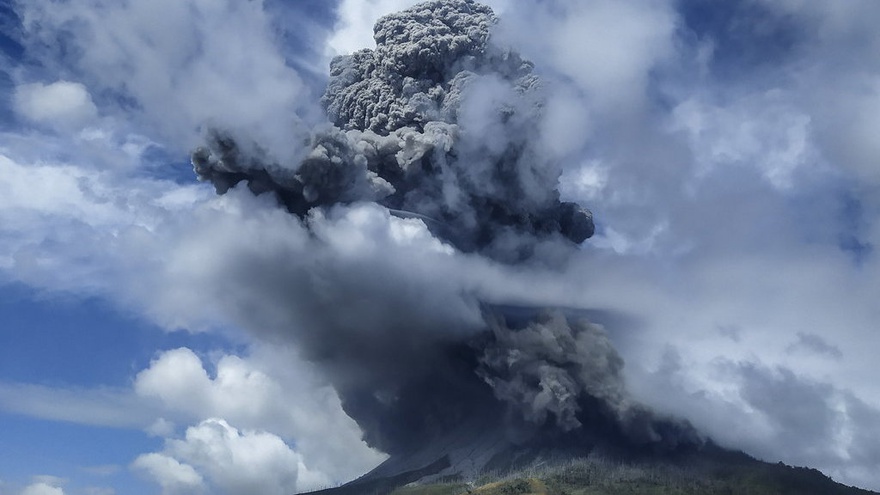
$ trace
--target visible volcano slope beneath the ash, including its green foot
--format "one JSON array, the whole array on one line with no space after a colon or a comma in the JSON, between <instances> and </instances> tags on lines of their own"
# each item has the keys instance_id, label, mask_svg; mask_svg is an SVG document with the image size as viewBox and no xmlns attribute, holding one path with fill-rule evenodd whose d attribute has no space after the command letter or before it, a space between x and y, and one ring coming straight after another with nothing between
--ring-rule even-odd
<instances>
[{"instance_id":1,"label":"visible volcano slope beneath the ash, including its green foot","mask_svg":"<svg viewBox=\"0 0 880 495\"><path fill-rule=\"evenodd\" d=\"M870 495L835 483L815 469L772 464L706 444L699 451L658 458L601 456L533 459L503 474L437 479L443 460L395 477L364 476L317 495ZM371 473L372 474L372 473Z\"/></svg>"}]
</instances>

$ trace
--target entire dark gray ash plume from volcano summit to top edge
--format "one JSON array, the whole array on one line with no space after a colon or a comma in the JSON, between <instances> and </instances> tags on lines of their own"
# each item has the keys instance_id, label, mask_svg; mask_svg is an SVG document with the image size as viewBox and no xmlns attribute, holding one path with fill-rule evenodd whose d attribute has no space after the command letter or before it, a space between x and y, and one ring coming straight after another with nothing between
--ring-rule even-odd
<instances>
[{"instance_id":1,"label":"entire dark gray ash plume from volcano summit to top edge","mask_svg":"<svg viewBox=\"0 0 880 495\"><path fill-rule=\"evenodd\" d=\"M385 16L375 49L333 60L329 122L298 163L220 129L192 156L218 193L243 182L274 194L310 233L284 263L243 270L263 284L246 297L265 295L296 322L285 335L326 372L367 442L391 455L377 476L443 456L485 468L529 445L700 441L686 422L629 399L600 325L553 309L513 317L455 278L529 263L541 243L574 252L594 230L589 210L560 201L561 164L536 145L544 89L531 62L493 43L495 23L471 0ZM430 239L366 266L328 240L353 215ZM422 273L401 258L439 268Z\"/></svg>"}]
</instances>

